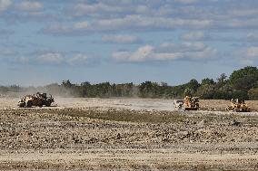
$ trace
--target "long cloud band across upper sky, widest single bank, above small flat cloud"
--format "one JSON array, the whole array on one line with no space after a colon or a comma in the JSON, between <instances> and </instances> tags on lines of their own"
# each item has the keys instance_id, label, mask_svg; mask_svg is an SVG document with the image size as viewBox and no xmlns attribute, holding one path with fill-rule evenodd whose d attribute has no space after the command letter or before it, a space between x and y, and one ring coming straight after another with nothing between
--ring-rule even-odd
<instances>
[{"instance_id":1,"label":"long cloud band across upper sky, widest single bank, above small flat cloud","mask_svg":"<svg viewBox=\"0 0 258 171\"><path fill-rule=\"evenodd\" d=\"M75 23L73 26L52 24L43 29L43 33L81 35L82 33L99 33L114 31L156 31L177 28L200 29L211 25L209 20L189 20L181 18L144 17L126 15L124 18L112 18Z\"/></svg>"}]
</instances>

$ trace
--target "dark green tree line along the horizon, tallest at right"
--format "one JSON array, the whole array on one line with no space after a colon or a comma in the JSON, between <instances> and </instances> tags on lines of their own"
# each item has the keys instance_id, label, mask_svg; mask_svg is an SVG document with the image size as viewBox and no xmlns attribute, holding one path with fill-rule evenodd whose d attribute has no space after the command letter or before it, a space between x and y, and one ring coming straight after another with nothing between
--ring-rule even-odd
<instances>
[{"instance_id":1,"label":"dark green tree line along the horizon, tallest at right","mask_svg":"<svg viewBox=\"0 0 258 171\"><path fill-rule=\"evenodd\" d=\"M37 90L64 97L81 98L139 97L181 99L185 95L191 94L204 100L230 100L232 98L258 100L258 69L247 66L243 69L233 71L229 77L223 73L215 81L205 78L201 82L198 82L193 79L177 86L170 86L166 82L158 83L153 81L144 81L136 85L133 82L123 84L110 82L91 84L88 81L74 84L67 80L62 81L61 84L53 83L37 88L21 88L16 85L0 87L1 93Z\"/></svg>"}]
</instances>

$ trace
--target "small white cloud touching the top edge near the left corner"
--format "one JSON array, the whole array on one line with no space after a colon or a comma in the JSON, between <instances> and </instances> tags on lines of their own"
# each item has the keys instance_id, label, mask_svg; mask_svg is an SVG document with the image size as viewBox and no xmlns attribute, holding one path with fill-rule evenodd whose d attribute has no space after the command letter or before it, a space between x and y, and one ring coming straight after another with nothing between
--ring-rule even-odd
<instances>
[{"instance_id":1,"label":"small white cloud touching the top edge near the left corner","mask_svg":"<svg viewBox=\"0 0 258 171\"><path fill-rule=\"evenodd\" d=\"M43 8L43 5L36 1L23 1L15 7L21 11L37 11Z\"/></svg>"}]
</instances>

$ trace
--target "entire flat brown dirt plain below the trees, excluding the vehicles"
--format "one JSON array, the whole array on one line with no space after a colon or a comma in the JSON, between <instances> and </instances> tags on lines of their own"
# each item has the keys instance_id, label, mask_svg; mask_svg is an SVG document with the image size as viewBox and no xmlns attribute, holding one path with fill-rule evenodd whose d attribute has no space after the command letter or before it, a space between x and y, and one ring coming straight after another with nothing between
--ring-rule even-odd
<instances>
[{"instance_id":1,"label":"entire flat brown dirt plain below the trees, excluding the vehicles","mask_svg":"<svg viewBox=\"0 0 258 171\"><path fill-rule=\"evenodd\" d=\"M258 112L213 111L229 101L188 112L173 100L17 101L0 98L0 170L258 170Z\"/></svg>"}]
</instances>

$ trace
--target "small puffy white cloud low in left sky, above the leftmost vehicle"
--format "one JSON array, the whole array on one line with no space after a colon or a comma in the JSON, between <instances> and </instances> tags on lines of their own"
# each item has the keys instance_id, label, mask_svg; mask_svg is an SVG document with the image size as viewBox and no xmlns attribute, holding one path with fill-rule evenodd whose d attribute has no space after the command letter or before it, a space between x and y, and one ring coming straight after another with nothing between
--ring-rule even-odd
<instances>
[{"instance_id":1,"label":"small puffy white cloud low in left sky, above the leftmost vehicle","mask_svg":"<svg viewBox=\"0 0 258 171\"><path fill-rule=\"evenodd\" d=\"M36 62L42 64L62 64L65 62L64 56L59 52L47 52L41 54L36 58Z\"/></svg>"}]
</instances>

